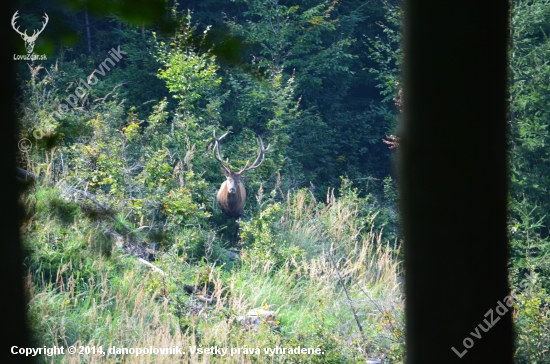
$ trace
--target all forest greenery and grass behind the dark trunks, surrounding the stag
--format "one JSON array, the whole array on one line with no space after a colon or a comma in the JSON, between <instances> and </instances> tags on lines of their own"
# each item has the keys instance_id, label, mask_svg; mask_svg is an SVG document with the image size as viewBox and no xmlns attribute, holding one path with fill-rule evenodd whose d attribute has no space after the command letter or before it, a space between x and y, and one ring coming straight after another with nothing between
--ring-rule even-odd
<instances>
[{"instance_id":1,"label":"all forest greenery and grass behind the dark trunks, surrounding the stag","mask_svg":"<svg viewBox=\"0 0 550 364\"><path fill-rule=\"evenodd\" d=\"M512 5L516 359L546 363L550 2ZM19 165L38 178L22 197L37 346L302 345L326 351L303 362L403 362L399 4L148 6L162 24L127 1L21 2L23 27L55 19L35 47L48 60L18 64L19 136L32 144ZM271 145L247 175L238 240L214 200L213 133L226 131L235 169L255 158L256 136ZM277 321L239 324L254 307Z\"/></svg>"}]
</instances>

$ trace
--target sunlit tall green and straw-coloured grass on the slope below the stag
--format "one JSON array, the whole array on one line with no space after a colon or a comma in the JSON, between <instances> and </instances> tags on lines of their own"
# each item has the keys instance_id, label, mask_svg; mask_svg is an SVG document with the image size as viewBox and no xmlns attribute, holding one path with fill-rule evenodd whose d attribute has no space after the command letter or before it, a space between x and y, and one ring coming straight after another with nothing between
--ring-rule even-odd
<instances>
[{"instance_id":1,"label":"sunlit tall green and straw-coloured grass on the slope below the stag","mask_svg":"<svg viewBox=\"0 0 550 364\"><path fill-rule=\"evenodd\" d=\"M377 231L375 212L365 214L356 200L331 193L321 203L298 191L283 202L265 201L244 223L244 247L231 269L214 258L190 263L168 248L154 262L164 275L109 243L102 233L108 223L89 219L55 189L39 187L24 201L32 212L22 231L36 346L101 345L105 352L112 346L177 346L187 352L42 356L42 362L403 361L399 262ZM208 293L210 301L187 294L186 284ZM254 308L274 311L275 318L258 327L240 323L238 316ZM261 354L191 355L189 346L258 348ZM324 354L263 351L276 346L319 347Z\"/></svg>"}]
</instances>

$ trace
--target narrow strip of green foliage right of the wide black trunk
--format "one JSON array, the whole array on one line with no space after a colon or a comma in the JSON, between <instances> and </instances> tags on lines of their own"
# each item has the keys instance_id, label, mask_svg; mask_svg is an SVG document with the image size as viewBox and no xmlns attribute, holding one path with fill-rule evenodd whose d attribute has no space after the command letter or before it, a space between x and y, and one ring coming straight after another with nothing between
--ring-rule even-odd
<instances>
[{"instance_id":1,"label":"narrow strip of green foliage right of the wide black trunk","mask_svg":"<svg viewBox=\"0 0 550 364\"><path fill-rule=\"evenodd\" d=\"M550 3L514 1L509 77L510 278L520 297L518 363L550 360ZM527 277L527 278L526 278ZM528 282L527 285L522 283Z\"/></svg>"}]
</instances>

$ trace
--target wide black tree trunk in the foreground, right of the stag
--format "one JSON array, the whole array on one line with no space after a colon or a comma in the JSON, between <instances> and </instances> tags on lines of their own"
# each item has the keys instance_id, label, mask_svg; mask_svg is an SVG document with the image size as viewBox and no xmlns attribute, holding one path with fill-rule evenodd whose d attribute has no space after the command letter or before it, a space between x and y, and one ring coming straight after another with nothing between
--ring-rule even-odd
<instances>
[{"instance_id":1,"label":"wide black tree trunk in the foreground, right of the stag","mask_svg":"<svg viewBox=\"0 0 550 364\"><path fill-rule=\"evenodd\" d=\"M495 310L509 294L508 1L405 6L407 362L512 363L511 310Z\"/></svg>"}]
</instances>

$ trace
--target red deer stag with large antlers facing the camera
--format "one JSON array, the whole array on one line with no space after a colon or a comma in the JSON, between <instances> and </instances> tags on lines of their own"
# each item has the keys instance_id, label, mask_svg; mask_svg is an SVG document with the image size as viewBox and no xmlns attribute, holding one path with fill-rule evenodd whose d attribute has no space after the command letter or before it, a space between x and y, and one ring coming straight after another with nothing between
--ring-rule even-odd
<instances>
[{"instance_id":1,"label":"red deer stag with large antlers facing the camera","mask_svg":"<svg viewBox=\"0 0 550 364\"><path fill-rule=\"evenodd\" d=\"M229 133L230 132L227 132L221 137L216 138L216 131L214 131L214 140L216 141L213 150L214 158L216 158L218 162L220 162L220 169L223 175L227 178L225 182L222 183L222 185L220 186L217 200L218 205L220 205L220 208L222 209L222 212L227 217L235 219L235 237L238 238L239 219L244 214L244 204L246 200L246 190L241 179L246 172L252 169L256 169L262 165L265 157L265 152L267 152L270 145L268 144L267 148L264 148L262 138L258 137L258 145L260 147L260 151L254 163L252 163L251 166L248 166L247 161L243 169L241 169L239 172L233 172L231 171L229 165L223 161L220 151L220 140L222 140Z\"/></svg>"}]
</instances>

